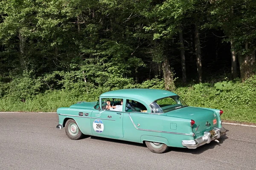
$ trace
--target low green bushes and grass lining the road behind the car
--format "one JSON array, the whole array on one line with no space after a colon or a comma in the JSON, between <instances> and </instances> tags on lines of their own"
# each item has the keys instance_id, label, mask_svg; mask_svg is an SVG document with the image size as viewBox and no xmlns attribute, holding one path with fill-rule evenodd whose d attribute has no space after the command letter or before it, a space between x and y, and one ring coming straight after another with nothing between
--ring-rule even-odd
<instances>
[{"instance_id":1,"label":"low green bushes and grass lining the road behind the car","mask_svg":"<svg viewBox=\"0 0 256 170\"><path fill-rule=\"evenodd\" d=\"M25 73L23 77L1 86L0 93L7 86L10 89L9 94L0 99L0 111L56 111L59 107L69 107L79 101L97 101L100 94L119 89L121 85L124 85L123 88L164 89L164 80L157 78L142 84L133 83L129 79L113 79L112 83L120 81L119 84L114 84L112 87L109 87L110 85L97 87L90 83L86 86L85 82L80 80L71 82L74 77L79 76L78 74L65 75L65 79L61 80L65 88L61 90L48 90L39 94L42 82L33 80L31 75ZM17 82L21 84L16 85ZM247 79L244 83L239 79L217 82L213 85L199 83L190 87L176 88L174 92L180 95L189 106L223 110L224 114L221 117L224 120L256 123L256 76ZM20 99L23 98L26 102L21 102Z\"/></svg>"}]
</instances>

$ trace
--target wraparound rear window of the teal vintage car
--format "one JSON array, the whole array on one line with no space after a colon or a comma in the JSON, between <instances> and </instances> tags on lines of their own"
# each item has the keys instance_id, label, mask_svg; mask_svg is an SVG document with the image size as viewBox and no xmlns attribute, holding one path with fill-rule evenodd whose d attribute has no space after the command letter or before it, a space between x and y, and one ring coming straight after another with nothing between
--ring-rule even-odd
<instances>
[{"instance_id":1,"label":"wraparound rear window of the teal vintage car","mask_svg":"<svg viewBox=\"0 0 256 170\"><path fill-rule=\"evenodd\" d=\"M166 113L179 108L186 107L185 102L179 96L169 96L151 103L151 113Z\"/></svg>"}]
</instances>

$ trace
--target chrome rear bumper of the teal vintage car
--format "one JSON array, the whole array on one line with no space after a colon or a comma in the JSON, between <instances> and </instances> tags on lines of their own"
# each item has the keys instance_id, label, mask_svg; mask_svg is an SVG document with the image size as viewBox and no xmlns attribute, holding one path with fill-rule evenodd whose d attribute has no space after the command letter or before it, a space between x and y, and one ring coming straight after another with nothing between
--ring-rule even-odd
<instances>
[{"instance_id":1,"label":"chrome rear bumper of the teal vintage car","mask_svg":"<svg viewBox=\"0 0 256 170\"><path fill-rule=\"evenodd\" d=\"M183 140L182 145L189 149L195 149L204 144L210 143L214 139L219 139L221 135L224 135L226 133L226 129L224 127L221 127L221 128L215 127L213 128L213 130L215 130L215 133L216 133L215 136L211 137L211 133L204 132L204 136L197 138L195 140Z\"/></svg>"}]
</instances>

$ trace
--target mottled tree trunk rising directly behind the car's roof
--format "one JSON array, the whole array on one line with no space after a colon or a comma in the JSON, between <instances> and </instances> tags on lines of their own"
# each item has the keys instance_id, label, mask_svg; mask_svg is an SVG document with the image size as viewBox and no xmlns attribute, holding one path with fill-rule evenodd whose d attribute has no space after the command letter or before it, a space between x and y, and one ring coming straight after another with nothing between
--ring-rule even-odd
<instances>
[{"instance_id":1,"label":"mottled tree trunk rising directly behind the car's roof","mask_svg":"<svg viewBox=\"0 0 256 170\"><path fill-rule=\"evenodd\" d=\"M173 74L172 74L172 70L171 70L167 55L163 56L162 66L163 66L162 68L163 68L163 77L165 82L165 90L173 91L175 89L175 85L173 82Z\"/></svg>"}]
</instances>

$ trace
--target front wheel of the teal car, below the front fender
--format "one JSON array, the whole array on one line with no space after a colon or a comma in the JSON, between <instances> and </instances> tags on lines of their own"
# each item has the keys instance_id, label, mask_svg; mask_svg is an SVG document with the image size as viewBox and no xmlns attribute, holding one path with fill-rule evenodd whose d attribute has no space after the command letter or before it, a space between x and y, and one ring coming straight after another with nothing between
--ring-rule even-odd
<instances>
[{"instance_id":1,"label":"front wheel of the teal car, below the front fender","mask_svg":"<svg viewBox=\"0 0 256 170\"><path fill-rule=\"evenodd\" d=\"M81 137L84 135L76 124L76 121L73 119L67 120L65 124L65 132L67 137L73 140L81 139Z\"/></svg>"}]
</instances>

